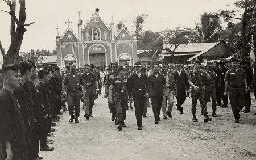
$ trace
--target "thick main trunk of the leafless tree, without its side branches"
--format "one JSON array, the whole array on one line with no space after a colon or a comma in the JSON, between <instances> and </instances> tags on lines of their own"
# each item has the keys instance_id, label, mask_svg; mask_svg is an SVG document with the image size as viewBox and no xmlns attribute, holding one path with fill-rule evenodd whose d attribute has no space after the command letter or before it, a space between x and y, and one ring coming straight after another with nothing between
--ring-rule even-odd
<instances>
[{"instance_id":1,"label":"thick main trunk of the leafless tree, without its side branches","mask_svg":"<svg viewBox=\"0 0 256 160\"><path fill-rule=\"evenodd\" d=\"M17 25L16 32L11 40L10 47L6 53L5 60L3 61L3 65L14 63L16 57L19 54L20 46L22 44L23 35L26 31L25 24L26 20L26 11L25 11L25 0L19 0L20 9L19 9L19 25Z\"/></svg>"}]
</instances>

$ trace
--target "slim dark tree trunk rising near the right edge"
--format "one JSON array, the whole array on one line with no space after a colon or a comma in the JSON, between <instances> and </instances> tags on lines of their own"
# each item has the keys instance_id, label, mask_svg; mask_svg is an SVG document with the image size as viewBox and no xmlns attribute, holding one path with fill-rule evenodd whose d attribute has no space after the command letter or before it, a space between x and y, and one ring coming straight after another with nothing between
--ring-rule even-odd
<instances>
[{"instance_id":1,"label":"slim dark tree trunk rising near the right edge","mask_svg":"<svg viewBox=\"0 0 256 160\"><path fill-rule=\"evenodd\" d=\"M247 7L248 2L245 0L245 11L243 12L243 21L242 21L242 46L241 46L241 58L245 57L246 52L246 26L247 26Z\"/></svg>"}]
</instances>

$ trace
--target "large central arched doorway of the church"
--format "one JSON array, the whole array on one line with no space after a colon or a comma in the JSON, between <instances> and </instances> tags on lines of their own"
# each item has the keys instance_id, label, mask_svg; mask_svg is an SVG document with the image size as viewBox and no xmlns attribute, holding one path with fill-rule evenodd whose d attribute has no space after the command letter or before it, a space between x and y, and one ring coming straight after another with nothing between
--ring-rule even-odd
<instances>
[{"instance_id":1,"label":"large central arched doorway of the church","mask_svg":"<svg viewBox=\"0 0 256 160\"><path fill-rule=\"evenodd\" d=\"M94 44L88 52L89 64L94 66L106 65L106 49L101 44Z\"/></svg>"}]
</instances>

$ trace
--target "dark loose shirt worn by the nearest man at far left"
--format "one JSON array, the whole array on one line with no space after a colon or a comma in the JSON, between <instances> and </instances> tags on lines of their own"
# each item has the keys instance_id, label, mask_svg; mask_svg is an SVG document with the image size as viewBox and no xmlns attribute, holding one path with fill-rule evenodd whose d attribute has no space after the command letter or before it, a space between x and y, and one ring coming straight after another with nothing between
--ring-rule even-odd
<instances>
[{"instance_id":1,"label":"dark loose shirt worn by the nearest man at far left","mask_svg":"<svg viewBox=\"0 0 256 160\"><path fill-rule=\"evenodd\" d=\"M10 141L14 152L23 151L28 144L18 101L5 89L0 91L0 140L2 144Z\"/></svg>"}]
</instances>

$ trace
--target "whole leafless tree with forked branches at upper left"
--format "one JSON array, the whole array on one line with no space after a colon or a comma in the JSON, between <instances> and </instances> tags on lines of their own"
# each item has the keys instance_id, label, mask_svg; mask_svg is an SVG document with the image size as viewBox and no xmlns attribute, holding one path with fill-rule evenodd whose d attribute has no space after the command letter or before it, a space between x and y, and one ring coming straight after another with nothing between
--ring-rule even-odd
<instances>
[{"instance_id":1,"label":"whole leafless tree with forked branches at upper left","mask_svg":"<svg viewBox=\"0 0 256 160\"><path fill-rule=\"evenodd\" d=\"M11 15L11 44L10 47L6 53L5 60L3 61L3 65L14 63L16 60L16 57L18 57L20 46L22 44L24 33L26 32L26 26L30 26L31 24L35 23L29 23L25 24L26 21L26 7L25 7L25 0L19 0L19 19L15 15L15 7L16 7L16 1L10 1L10 0L3 0L7 5L10 7L10 12L1 10L3 12L7 12ZM15 24L17 24L16 31L15 31Z\"/></svg>"}]
</instances>

